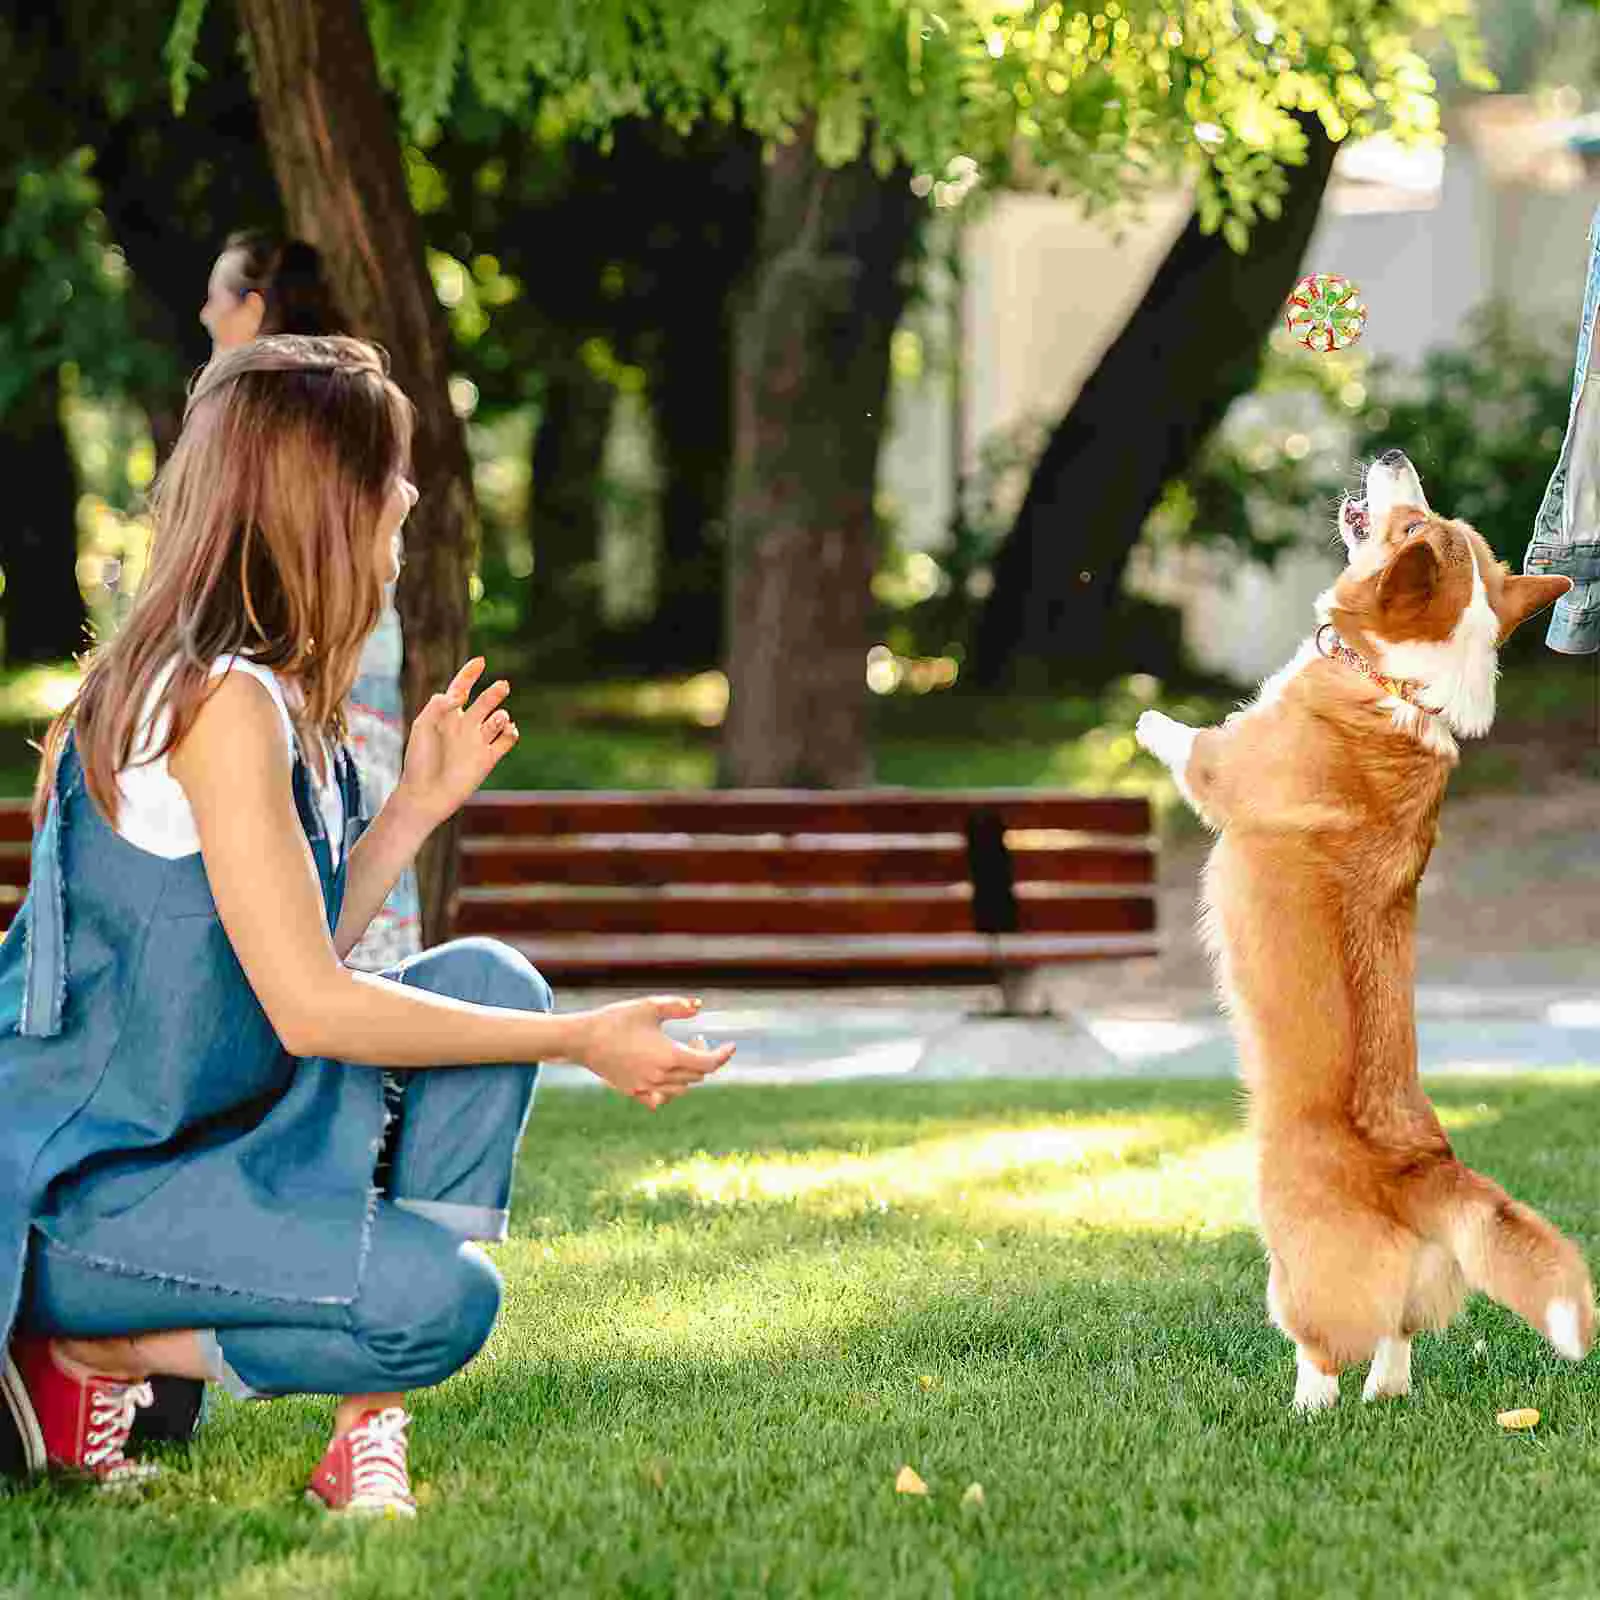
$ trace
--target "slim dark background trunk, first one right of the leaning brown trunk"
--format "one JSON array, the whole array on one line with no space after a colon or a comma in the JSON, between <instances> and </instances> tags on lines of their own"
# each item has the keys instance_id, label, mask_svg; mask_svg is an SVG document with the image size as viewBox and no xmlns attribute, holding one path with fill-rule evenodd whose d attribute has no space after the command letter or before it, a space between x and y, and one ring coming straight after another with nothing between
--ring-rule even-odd
<instances>
[{"instance_id":1,"label":"slim dark background trunk, first one right of the leaning brown trunk","mask_svg":"<svg viewBox=\"0 0 1600 1600\"><path fill-rule=\"evenodd\" d=\"M530 643L541 664L587 670L600 632L600 474L616 390L576 349L544 368L533 435L528 533L533 541Z\"/></svg>"}]
</instances>

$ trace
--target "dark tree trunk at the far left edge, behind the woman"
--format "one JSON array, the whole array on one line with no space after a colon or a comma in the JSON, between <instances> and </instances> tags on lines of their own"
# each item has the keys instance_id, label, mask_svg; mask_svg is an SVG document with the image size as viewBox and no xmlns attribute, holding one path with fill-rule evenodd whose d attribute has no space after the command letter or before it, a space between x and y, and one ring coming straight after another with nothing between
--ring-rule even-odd
<instances>
[{"instance_id":1,"label":"dark tree trunk at the far left edge, behind the woman","mask_svg":"<svg viewBox=\"0 0 1600 1600\"><path fill-rule=\"evenodd\" d=\"M86 643L86 611L78 589L77 474L54 370L42 373L0 424L0 480L11 485L0 520L6 664L69 661Z\"/></svg>"}]
</instances>

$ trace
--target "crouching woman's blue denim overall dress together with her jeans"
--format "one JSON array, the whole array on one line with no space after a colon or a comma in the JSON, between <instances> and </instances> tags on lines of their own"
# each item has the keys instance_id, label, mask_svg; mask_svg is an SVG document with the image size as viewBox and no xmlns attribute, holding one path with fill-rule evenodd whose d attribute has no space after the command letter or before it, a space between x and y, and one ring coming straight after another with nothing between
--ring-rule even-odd
<instances>
[{"instance_id":1,"label":"crouching woman's blue denim overall dress together with her jeans","mask_svg":"<svg viewBox=\"0 0 1600 1600\"><path fill-rule=\"evenodd\" d=\"M299 757L293 774L330 928L365 827L342 750L336 768L338 861ZM522 955L486 939L384 976L552 1003ZM464 1240L504 1237L536 1075L288 1054L202 858L122 838L69 741L0 941L0 1334L194 1328L213 1376L243 1395L438 1382L499 1307L494 1269Z\"/></svg>"}]
</instances>

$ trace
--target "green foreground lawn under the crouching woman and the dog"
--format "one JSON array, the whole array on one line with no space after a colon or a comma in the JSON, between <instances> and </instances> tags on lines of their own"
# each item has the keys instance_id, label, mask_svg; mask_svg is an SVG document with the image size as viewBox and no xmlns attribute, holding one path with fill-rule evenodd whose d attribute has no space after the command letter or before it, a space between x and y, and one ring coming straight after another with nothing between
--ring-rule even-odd
<instances>
[{"instance_id":1,"label":"green foreground lawn under the crouching woman and the dog","mask_svg":"<svg viewBox=\"0 0 1600 1600\"><path fill-rule=\"evenodd\" d=\"M1592 1250L1597 1088L1435 1098ZM325 1402L222 1405L131 1502L0 1499L0 1594L1600 1592L1600 1358L1475 1302L1410 1402L1296 1418L1248 1214L1227 1083L550 1093L418 1523L301 1504Z\"/></svg>"}]
</instances>

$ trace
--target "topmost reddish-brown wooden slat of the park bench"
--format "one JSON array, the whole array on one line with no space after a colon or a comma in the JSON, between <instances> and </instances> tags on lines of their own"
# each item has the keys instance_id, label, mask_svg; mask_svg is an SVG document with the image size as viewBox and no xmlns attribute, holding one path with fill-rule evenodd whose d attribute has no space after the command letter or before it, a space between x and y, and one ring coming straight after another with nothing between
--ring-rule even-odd
<instances>
[{"instance_id":1,"label":"topmost reddish-brown wooden slat of the park bench","mask_svg":"<svg viewBox=\"0 0 1600 1600\"><path fill-rule=\"evenodd\" d=\"M1005 827L1078 834L1150 832L1136 795L1059 795L1030 789L709 789L702 794L498 789L474 795L467 837L562 834L962 834L974 810Z\"/></svg>"}]
</instances>

